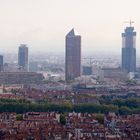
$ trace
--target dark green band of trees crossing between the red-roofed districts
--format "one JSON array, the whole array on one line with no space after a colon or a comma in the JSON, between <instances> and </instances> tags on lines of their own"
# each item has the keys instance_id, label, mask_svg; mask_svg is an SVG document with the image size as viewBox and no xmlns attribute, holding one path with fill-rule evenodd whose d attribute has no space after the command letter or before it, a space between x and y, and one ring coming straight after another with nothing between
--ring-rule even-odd
<instances>
[{"instance_id":1,"label":"dark green band of trees crossing between the red-roofed districts","mask_svg":"<svg viewBox=\"0 0 140 140\"><path fill-rule=\"evenodd\" d=\"M103 113L115 112L121 115L140 113L140 99L115 99L105 104L48 104L31 103L26 100L0 99L0 112L24 113L28 111L57 111L57 112L88 112Z\"/></svg>"}]
</instances>

